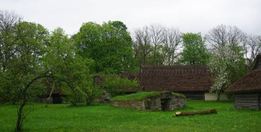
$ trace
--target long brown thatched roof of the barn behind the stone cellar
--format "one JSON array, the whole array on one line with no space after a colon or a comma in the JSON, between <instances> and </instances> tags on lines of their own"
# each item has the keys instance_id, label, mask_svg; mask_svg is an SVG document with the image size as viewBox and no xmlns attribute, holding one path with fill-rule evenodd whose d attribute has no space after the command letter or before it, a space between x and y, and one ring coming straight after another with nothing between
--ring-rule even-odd
<instances>
[{"instance_id":1,"label":"long brown thatched roof of the barn behind the stone cellar","mask_svg":"<svg viewBox=\"0 0 261 132\"><path fill-rule=\"evenodd\" d=\"M141 66L139 88L131 91L203 92L211 85L207 66Z\"/></svg>"}]
</instances>

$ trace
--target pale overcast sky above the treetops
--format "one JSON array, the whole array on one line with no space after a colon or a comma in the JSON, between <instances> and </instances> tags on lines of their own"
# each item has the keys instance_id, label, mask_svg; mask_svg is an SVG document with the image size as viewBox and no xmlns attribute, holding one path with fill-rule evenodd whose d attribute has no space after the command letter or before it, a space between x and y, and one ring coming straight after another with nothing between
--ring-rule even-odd
<instances>
[{"instance_id":1,"label":"pale overcast sky above the treetops","mask_svg":"<svg viewBox=\"0 0 261 132\"><path fill-rule=\"evenodd\" d=\"M261 35L261 0L0 0L25 21L75 34L82 23L122 21L129 31L151 23L206 34L220 24Z\"/></svg>"}]
</instances>

